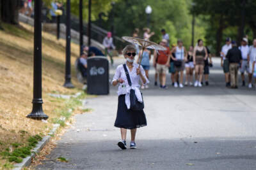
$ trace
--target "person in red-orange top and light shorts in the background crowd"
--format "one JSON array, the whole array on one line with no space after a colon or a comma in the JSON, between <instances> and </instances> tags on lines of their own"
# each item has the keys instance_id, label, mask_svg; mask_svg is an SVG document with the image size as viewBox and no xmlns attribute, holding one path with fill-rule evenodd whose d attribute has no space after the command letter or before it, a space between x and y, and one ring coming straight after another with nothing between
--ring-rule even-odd
<instances>
[{"instance_id":1,"label":"person in red-orange top and light shorts in the background crowd","mask_svg":"<svg viewBox=\"0 0 256 170\"><path fill-rule=\"evenodd\" d=\"M157 74L159 74L159 82L160 82L160 88L166 89L166 73L168 70L168 67L170 67L170 48L169 46L166 46L167 41L166 39L162 39L160 45L164 46L166 50L159 50L158 53L154 52L154 60L153 64L156 68Z\"/></svg>"}]
</instances>

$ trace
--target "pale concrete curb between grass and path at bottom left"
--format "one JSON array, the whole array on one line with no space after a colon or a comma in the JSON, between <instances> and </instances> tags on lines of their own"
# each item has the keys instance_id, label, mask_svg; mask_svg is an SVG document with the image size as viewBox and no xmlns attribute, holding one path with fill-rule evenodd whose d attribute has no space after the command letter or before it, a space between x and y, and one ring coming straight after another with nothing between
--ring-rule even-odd
<instances>
[{"instance_id":1,"label":"pale concrete curb between grass and path at bottom left","mask_svg":"<svg viewBox=\"0 0 256 170\"><path fill-rule=\"evenodd\" d=\"M31 150L31 155L29 157L26 157L22 160L21 163L15 164L13 170L21 170L23 167L29 166L31 164L31 159L36 156L37 153L39 153L42 148L50 141L51 136L55 134L58 127L60 127L60 124L54 124L51 132L47 136L45 136L42 141L38 142L35 148Z\"/></svg>"}]
</instances>

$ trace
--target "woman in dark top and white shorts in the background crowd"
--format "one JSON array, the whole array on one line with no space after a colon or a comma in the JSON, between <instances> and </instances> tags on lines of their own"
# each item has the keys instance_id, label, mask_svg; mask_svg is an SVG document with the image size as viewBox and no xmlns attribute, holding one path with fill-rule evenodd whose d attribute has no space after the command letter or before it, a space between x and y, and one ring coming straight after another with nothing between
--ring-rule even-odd
<instances>
[{"instance_id":1,"label":"woman in dark top and white shorts in the background crowd","mask_svg":"<svg viewBox=\"0 0 256 170\"><path fill-rule=\"evenodd\" d=\"M193 62L193 46L189 46L187 62L185 63L186 68L186 82L185 85L193 85L193 72L194 72L194 62Z\"/></svg>"}]
</instances>

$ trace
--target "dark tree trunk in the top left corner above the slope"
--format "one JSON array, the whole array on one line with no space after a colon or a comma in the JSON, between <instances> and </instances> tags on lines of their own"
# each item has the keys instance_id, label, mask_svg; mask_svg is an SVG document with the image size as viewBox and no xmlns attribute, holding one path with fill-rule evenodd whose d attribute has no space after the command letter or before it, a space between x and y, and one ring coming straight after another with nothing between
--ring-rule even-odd
<instances>
[{"instance_id":1,"label":"dark tree trunk in the top left corner above the slope","mask_svg":"<svg viewBox=\"0 0 256 170\"><path fill-rule=\"evenodd\" d=\"M3 22L19 24L19 0L0 0Z\"/></svg>"}]
</instances>

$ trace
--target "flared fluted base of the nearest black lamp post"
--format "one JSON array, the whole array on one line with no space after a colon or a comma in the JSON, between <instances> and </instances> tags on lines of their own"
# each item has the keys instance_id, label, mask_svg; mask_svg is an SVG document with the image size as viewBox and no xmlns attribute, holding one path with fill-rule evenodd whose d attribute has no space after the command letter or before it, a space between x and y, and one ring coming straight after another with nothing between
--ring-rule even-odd
<instances>
[{"instance_id":1,"label":"flared fluted base of the nearest black lamp post","mask_svg":"<svg viewBox=\"0 0 256 170\"><path fill-rule=\"evenodd\" d=\"M42 108L42 103L43 102L36 102L33 101L33 109L31 111L31 113L27 116L27 118L33 118L36 120L46 120L48 118L47 115L45 115L43 108Z\"/></svg>"}]
</instances>

